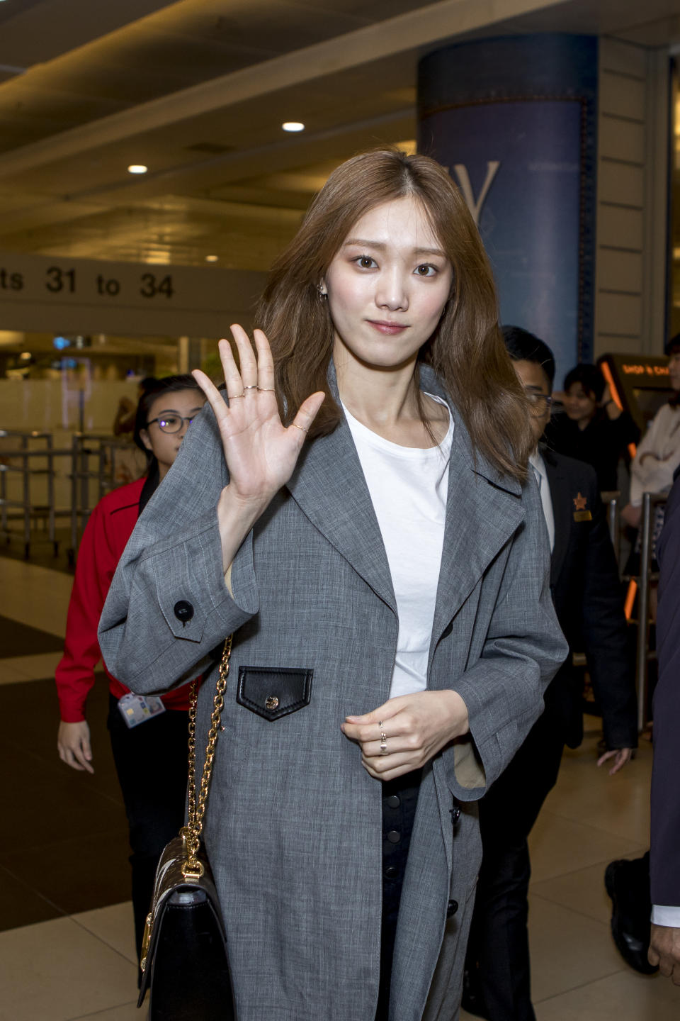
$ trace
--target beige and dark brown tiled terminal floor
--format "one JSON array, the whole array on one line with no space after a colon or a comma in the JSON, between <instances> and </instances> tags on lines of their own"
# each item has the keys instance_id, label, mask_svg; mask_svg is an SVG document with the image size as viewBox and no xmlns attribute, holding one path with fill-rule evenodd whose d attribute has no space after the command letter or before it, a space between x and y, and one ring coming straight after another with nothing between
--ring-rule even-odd
<instances>
[{"instance_id":1,"label":"beige and dark brown tiled terminal floor","mask_svg":"<svg viewBox=\"0 0 680 1021\"><path fill-rule=\"evenodd\" d=\"M0 616L48 636L63 634L67 575L2 558L0 579ZM116 898L122 903L107 902L126 888L127 866L124 818L99 719L106 686L92 707L95 776L63 772L58 763L51 769L57 716L45 678L58 652L14 651L0 659L3 816L17 823L0 847L0 1021L140 1019L130 905L123 892ZM537 1019L677 1021L680 989L631 971L614 949L603 883L610 860L646 847L651 749L643 742L637 759L610 777L595 768L596 739L592 729L581 748L566 752L531 836ZM102 875L103 855L111 864Z\"/></svg>"}]
</instances>

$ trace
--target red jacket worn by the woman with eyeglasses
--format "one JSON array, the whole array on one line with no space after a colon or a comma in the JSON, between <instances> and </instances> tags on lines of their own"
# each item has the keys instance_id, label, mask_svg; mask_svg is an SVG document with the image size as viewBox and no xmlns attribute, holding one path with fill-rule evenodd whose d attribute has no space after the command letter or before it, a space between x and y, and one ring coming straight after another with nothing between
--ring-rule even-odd
<instances>
[{"instance_id":1,"label":"red jacket worn by the woman with eyeglasses","mask_svg":"<svg viewBox=\"0 0 680 1021\"><path fill-rule=\"evenodd\" d=\"M107 493L90 516L83 533L75 578L68 603L64 654L56 669L59 709L64 723L85 720L85 703L95 683L95 667L102 658L97 627L118 561L139 515L145 479ZM129 689L109 674L111 694L120 698ZM166 709L189 709L189 685L163 695Z\"/></svg>"}]
</instances>

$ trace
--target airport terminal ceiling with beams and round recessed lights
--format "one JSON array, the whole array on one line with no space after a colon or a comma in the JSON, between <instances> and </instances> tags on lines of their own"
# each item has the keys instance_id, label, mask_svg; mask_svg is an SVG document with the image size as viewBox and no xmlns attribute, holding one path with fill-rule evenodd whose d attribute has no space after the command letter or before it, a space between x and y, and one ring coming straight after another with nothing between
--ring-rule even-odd
<instances>
[{"instance_id":1,"label":"airport terminal ceiling with beams and round recessed lights","mask_svg":"<svg viewBox=\"0 0 680 1021\"><path fill-rule=\"evenodd\" d=\"M680 12L677 0L0 0L0 249L266 271L337 162L415 145L420 56L535 31L670 47ZM286 134L287 120L305 130Z\"/></svg>"}]
</instances>

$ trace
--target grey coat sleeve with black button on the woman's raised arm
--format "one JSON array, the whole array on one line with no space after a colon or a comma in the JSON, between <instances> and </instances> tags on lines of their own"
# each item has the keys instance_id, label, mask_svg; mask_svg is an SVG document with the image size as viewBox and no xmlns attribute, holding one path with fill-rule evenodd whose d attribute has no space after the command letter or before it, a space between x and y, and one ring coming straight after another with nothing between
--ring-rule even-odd
<instances>
[{"instance_id":1,"label":"grey coat sleeve with black button on the woman's raised arm","mask_svg":"<svg viewBox=\"0 0 680 1021\"><path fill-rule=\"evenodd\" d=\"M258 609L252 536L222 574L217 500L228 476L206 405L138 521L99 626L107 669L133 691L166 691L217 658Z\"/></svg>"}]
</instances>

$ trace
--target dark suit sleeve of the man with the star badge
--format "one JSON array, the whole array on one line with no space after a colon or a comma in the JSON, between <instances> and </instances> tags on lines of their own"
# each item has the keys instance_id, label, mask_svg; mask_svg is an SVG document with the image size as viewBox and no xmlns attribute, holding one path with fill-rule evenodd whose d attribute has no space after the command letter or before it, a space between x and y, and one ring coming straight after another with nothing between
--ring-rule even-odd
<instances>
[{"instance_id":1,"label":"dark suit sleeve of the man with the star badge","mask_svg":"<svg viewBox=\"0 0 680 1021\"><path fill-rule=\"evenodd\" d=\"M581 635L608 748L637 747L635 678L621 580L594 472L587 466L592 522L587 531ZM585 488L585 484L584 484Z\"/></svg>"}]
</instances>

